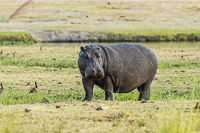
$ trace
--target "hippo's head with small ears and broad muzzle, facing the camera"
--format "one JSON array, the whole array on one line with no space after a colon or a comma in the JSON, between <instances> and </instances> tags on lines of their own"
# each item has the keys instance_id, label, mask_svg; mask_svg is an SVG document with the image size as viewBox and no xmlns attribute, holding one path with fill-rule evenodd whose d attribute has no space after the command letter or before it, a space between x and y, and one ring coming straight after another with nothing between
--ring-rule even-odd
<instances>
[{"instance_id":1,"label":"hippo's head with small ears and broad muzzle, facing the camera","mask_svg":"<svg viewBox=\"0 0 200 133\"><path fill-rule=\"evenodd\" d=\"M86 78L104 78L103 58L98 46L81 47L78 59L81 75Z\"/></svg>"}]
</instances>

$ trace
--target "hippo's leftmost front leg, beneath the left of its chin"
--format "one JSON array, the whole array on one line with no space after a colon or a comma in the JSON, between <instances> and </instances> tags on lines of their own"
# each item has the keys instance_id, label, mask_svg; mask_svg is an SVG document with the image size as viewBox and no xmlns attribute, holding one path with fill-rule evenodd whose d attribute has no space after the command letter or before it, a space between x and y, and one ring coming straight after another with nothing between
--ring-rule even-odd
<instances>
[{"instance_id":1,"label":"hippo's leftmost front leg, beneath the left of its chin","mask_svg":"<svg viewBox=\"0 0 200 133\"><path fill-rule=\"evenodd\" d=\"M85 89L85 98L82 100L82 102L91 101L93 96L94 82L85 77L82 77L82 82L83 82L83 87Z\"/></svg>"}]
</instances>

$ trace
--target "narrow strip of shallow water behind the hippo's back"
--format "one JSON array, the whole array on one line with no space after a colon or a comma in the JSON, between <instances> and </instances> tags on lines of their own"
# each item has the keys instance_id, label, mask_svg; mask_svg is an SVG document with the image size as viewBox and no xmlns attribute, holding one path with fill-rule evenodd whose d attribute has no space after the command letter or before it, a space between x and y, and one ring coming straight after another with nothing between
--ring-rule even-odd
<instances>
[{"instance_id":1,"label":"narrow strip of shallow water behind the hippo's back","mask_svg":"<svg viewBox=\"0 0 200 133\"><path fill-rule=\"evenodd\" d=\"M114 45L115 43L101 42L101 43L38 43L38 46L49 46L49 47L73 47L73 46L86 46L92 44L106 44L106 45ZM133 44L142 44L149 48L191 48L197 47L200 48L200 42L150 42L150 43L135 43Z\"/></svg>"}]
</instances>

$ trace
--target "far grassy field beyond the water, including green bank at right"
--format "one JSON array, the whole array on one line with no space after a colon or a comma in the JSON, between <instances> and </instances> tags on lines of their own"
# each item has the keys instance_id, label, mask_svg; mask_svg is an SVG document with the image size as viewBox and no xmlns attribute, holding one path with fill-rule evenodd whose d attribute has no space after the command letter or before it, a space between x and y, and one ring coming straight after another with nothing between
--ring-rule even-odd
<instances>
[{"instance_id":1,"label":"far grassy field beyond the water, including green bank at right","mask_svg":"<svg viewBox=\"0 0 200 133\"><path fill-rule=\"evenodd\" d=\"M0 0L0 32L103 34L99 41L200 41L200 2L195 0L33 0L7 23L23 2Z\"/></svg>"}]
</instances>

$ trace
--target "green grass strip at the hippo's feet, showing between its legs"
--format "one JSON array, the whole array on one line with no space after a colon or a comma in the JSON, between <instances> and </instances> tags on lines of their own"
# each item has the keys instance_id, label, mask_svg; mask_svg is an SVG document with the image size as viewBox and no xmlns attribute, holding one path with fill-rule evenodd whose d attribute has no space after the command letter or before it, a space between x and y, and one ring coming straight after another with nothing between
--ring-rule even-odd
<instances>
[{"instance_id":1,"label":"green grass strip at the hippo's feet, showing between its legs","mask_svg":"<svg viewBox=\"0 0 200 133\"><path fill-rule=\"evenodd\" d=\"M7 88L1 94L0 102L3 105L13 104L35 104L35 103L48 103L44 100L48 99L49 102L74 102L81 101L84 98L84 91L81 85L78 85L73 90L65 90L62 88L52 89L51 93L47 93L48 89L39 90L38 93L29 94L29 90L21 90L19 88ZM115 93L114 101L137 101L139 92L134 90L130 93ZM93 100L104 100L105 92L94 89ZM194 100L200 99L200 81L196 87L190 89L181 89L179 87L162 87L151 89L150 100Z\"/></svg>"}]
</instances>

